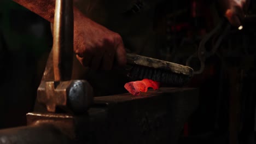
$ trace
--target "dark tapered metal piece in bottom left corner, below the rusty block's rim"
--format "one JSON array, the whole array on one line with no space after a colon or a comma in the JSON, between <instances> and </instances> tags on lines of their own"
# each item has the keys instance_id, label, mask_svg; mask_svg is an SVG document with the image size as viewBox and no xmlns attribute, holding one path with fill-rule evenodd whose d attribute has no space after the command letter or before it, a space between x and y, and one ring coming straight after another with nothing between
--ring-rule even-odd
<instances>
[{"instance_id":1,"label":"dark tapered metal piece in bottom left corner, below the rusty block's rim","mask_svg":"<svg viewBox=\"0 0 256 144\"><path fill-rule=\"evenodd\" d=\"M66 135L51 124L31 125L0 130L0 143L2 144L28 144L28 143L73 143Z\"/></svg>"}]
</instances>

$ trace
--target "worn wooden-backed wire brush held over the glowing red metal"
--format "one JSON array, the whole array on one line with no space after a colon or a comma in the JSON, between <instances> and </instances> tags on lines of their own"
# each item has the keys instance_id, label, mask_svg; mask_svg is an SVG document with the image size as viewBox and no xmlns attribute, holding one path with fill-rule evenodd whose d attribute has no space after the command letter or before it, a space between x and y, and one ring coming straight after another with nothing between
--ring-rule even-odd
<instances>
[{"instance_id":1,"label":"worn wooden-backed wire brush held over the glowing red metal","mask_svg":"<svg viewBox=\"0 0 256 144\"><path fill-rule=\"evenodd\" d=\"M150 79L177 87L183 86L193 76L190 67L132 53L127 53L126 69L133 80Z\"/></svg>"}]
</instances>

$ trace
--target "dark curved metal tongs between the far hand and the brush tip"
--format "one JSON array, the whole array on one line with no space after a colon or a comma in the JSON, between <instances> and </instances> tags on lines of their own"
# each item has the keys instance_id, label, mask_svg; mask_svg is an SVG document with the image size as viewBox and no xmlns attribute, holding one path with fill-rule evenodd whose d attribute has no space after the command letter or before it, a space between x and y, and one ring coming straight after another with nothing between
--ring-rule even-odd
<instances>
[{"instance_id":1,"label":"dark curved metal tongs between the far hand and the brush tip","mask_svg":"<svg viewBox=\"0 0 256 144\"><path fill-rule=\"evenodd\" d=\"M187 66L191 66L191 63L193 61L193 58L198 58L200 61L200 69L199 70L195 70L194 68L194 74L201 74L203 72L203 70L205 69L205 61L206 58L211 57L214 55L214 53L217 51L217 49L219 48L220 44L222 43L222 40L226 37L226 35L228 35L228 33L231 30L231 25L228 22L228 20L226 20L225 17L223 17L222 20L220 20L220 22L218 23L218 25L208 34L205 35L205 37L200 41L199 47L197 52L195 52L193 55L191 55L186 62ZM213 42L213 47L210 51L206 50L206 43L210 40L213 39L214 36L216 36L219 33L219 35L217 36L217 41Z\"/></svg>"}]
</instances>

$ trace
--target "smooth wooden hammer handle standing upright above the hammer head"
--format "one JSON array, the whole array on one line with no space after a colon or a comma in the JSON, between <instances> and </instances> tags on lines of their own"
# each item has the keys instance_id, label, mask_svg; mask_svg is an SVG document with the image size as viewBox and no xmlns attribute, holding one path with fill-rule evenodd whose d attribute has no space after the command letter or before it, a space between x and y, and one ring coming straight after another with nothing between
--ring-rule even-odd
<instances>
[{"instance_id":1,"label":"smooth wooden hammer handle standing upright above the hammer head","mask_svg":"<svg viewBox=\"0 0 256 144\"><path fill-rule=\"evenodd\" d=\"M70 80L73 63L73 1L56 0L53 29L55 81Z\"/></svg>"}]
</instances>

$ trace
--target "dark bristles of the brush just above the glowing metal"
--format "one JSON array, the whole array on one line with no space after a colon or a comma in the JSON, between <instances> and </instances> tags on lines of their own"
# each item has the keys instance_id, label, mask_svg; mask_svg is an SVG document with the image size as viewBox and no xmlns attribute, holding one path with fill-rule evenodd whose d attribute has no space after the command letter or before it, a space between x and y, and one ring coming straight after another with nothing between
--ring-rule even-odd
<instances>
[{"instance_id":1,"label":"dark bristles of the brush just above the glowing metal","mask_svg":"<svg viewBox=\"0 0 256 144\"><path fill-rule=\"evenodd\" d=\"M128 76L133 80L150 79L177 87L183 86L190 78L188 75L177 74L164 69L143 67L141 65L133 65Z\"/></svg>"}]
</instances>

